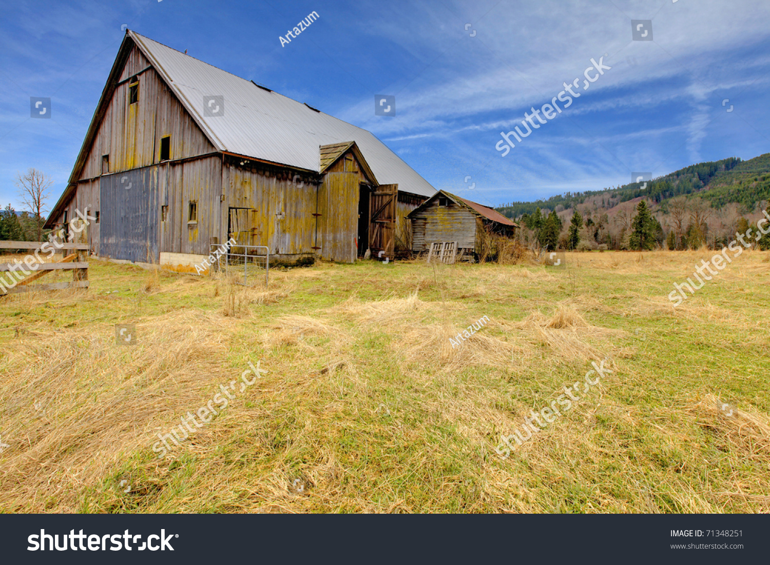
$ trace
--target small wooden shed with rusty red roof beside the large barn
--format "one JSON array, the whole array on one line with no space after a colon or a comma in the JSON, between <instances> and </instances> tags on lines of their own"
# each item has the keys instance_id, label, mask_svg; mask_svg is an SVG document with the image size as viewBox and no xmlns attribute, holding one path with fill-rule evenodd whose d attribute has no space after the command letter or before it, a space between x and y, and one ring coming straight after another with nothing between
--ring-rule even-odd
<instances>
[{"instance_id":1,"label":"small wooden shed with rusty red roof beside the large barn","mask_svg":"<svg viewBox=\"0 0 770 565\"><path fill-rule=\"evenodd\" d=\"M488 206L440 190L407 216L412 221L412 251L430 249L433 242L457 242L457 252L479 253L482 233L512 238L516 223Z\"/></svg>"}]
</instances>

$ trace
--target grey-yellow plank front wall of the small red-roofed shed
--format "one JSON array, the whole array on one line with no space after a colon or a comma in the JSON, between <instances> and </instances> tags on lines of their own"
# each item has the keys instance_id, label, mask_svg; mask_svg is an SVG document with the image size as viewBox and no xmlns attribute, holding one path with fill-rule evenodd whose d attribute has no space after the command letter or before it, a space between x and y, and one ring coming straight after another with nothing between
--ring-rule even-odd
<instances>
[{"instance_id":1,"label":"grey-yellow plank front wall of the small red-roofed shed","mask_svg":"<svg viewBox=\"0 0 770 565\"><path fill-rule=\"evenodd\" d=\"M412 217L412 250L426 251L432 242L456 241L457 248L474 249L476 246L476 216L464 206L451 200L448 206L439 206L439 199Z\"/></svg>"}]
</instances>

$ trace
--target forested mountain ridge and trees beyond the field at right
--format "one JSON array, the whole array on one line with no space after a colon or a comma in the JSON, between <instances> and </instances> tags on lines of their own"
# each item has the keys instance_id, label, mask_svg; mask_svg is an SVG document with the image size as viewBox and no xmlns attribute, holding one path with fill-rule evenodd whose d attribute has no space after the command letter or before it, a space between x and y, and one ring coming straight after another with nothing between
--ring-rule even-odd
<instances>
[{"instance_id":1,"label":"forested mountain ridge and trees beyond the field at right","mask_svg":"<svg viewBox=\"0 0 770 565\"><path fill-rule=\"evenodd\" d=\"M634 249L638 236L651 248L714 249L755 230L770 214L770 153L703 162L644 183L514 202L497 211L517 220L528 246L560 249ZM647 210L638 220L639 206ZM644 229L635 229L641 221ZM567 227L569 225L569 227ZM654 239L654 242L651 242ZM646 245L646 244L645 244ZM770 235L756 240L770 249Z\"/></svg>"}]
</instances>

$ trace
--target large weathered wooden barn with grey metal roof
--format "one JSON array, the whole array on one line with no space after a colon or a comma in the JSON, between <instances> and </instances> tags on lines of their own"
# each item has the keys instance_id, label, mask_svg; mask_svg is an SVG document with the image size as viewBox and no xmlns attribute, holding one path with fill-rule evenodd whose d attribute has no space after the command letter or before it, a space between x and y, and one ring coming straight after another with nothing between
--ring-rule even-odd
<instances>
[{"instance_id":1,"label":"large weathered wooden barn with grey metal roof","mask_svg":"<svg viewBox=\"0 0 770 565\"><path fill-rule=\"evenodd\" d=\"M92 253L133 262L192 266L231 236L353 262L408 249L434 192L370 132L127 30L46 226L87 208Z\"/></svg>"}]
</instances>

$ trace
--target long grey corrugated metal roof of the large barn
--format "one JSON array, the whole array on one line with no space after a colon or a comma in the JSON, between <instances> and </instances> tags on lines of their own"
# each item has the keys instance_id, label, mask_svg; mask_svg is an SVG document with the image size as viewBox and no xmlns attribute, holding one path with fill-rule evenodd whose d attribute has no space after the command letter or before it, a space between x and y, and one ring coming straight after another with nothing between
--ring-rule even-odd
<instances>
[{"instance_id":1,"label":"long grey corrugated metal roof of the large barn","mask_svg":"<svg viewBox=\"0 0 770 565\"><path fill-rule=\"evenodd\" d=\"M355 141L382 184L421 196L436 192L371 132L128 31L220 151L320 172L320 145ZM224 112L206 116L204 96L223 96Z\"/></svg>"}]
</instances>

